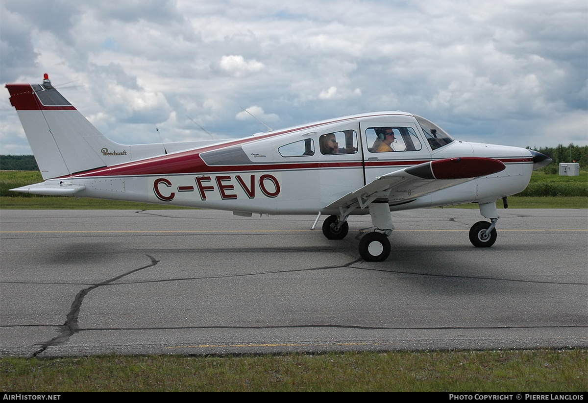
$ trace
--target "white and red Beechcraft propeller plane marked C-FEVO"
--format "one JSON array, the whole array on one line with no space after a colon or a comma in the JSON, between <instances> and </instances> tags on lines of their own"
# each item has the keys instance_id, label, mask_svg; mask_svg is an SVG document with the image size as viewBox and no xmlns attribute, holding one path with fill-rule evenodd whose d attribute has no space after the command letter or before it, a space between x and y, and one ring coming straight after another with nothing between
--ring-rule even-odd
<instances>
[{"instance_id":1,"label":"white and red Beechcraft propeller plane marked C-FEVO","mask_svg":"<svg viewBox=\"0 0 588 403\"><path fill-rule=\"evenodd\" d=\"M52 85L8 84L12 106L45 182L12 189L259 214L321 214L343 239L348 219L370 214L364 260L389 256L390 211L478 203L476 247L496 241L496 201L522 192L551 162L533 150L454 140L429 120L374 112L242 139L121 145L102 135Z\"/></svg>"}]
</instances>

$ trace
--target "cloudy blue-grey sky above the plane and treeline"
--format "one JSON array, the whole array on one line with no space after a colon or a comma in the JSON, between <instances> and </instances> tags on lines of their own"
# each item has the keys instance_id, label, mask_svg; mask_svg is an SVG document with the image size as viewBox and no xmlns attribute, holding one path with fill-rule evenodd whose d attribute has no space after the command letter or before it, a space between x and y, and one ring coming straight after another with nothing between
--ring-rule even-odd
<instances>
[{"instance_id":1,"label":"cloudy blue-grey sky above the plane and treeline","mask_svg":"<svg viewBox=\"0 0 588 403\"><path fill-rule=\"evenodd\" d=\"M49 73L119 143L267 130L247 108L272 129L405 110L460 140L588 144L586 0L2 0L0 13L0 82ZM31 154L4 91L0 154Z\"/></svg>"}]
</instances>

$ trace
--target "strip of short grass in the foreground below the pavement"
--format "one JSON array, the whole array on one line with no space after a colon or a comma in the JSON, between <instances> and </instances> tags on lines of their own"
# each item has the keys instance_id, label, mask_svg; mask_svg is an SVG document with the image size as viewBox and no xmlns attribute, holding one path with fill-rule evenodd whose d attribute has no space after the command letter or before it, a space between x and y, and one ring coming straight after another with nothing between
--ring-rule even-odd
<instances>
[{"instance_id":1,"label":"strip of short grass in the foreground below the pavement","mask_svg":"<svg viewBox=\"0 0 588 403\"><path fill-rule=\"evenodd\" d=\"M2 391L582 392L588 350L2 358Z\"/></svg>"}]
</instances>

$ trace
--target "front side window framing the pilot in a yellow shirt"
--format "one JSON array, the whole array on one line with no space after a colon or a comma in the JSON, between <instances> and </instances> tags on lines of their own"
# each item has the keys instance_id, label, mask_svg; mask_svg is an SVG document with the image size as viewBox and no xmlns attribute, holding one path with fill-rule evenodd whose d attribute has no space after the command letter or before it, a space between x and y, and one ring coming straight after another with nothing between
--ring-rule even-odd
<instances>
[{"instance_id":1,"label":"front side window framing the pilot in a yellow shirt","mask_svg":"<svg viewBox=\"0 0 588 403\"><path fill-rule=\"evenodd\" d=\"M366 130L370 153L420 151L423 146L412 127L369 127ZM373 140L372 140L373 139Z\"/></svg>"}]
</instances>

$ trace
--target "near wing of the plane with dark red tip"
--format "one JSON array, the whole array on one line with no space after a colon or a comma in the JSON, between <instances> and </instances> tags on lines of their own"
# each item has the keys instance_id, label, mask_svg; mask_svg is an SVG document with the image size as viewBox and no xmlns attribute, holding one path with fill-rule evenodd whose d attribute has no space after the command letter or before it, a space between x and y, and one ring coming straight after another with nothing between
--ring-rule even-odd
<instances>
[{"instance_id":1,"label":"near wing of the plane with dark red tip","mask_svg":"<svg viewBox=\"0 0 588 403\"><path fill-rule=\"evenodd\" d=\"M346 194L325 207L365 209L370 203L403 204L417 197L487 176L505 169L502 162L483 157L457 157L425 162L377 177L360 189Z\"/></svg>"}]
</instances>

